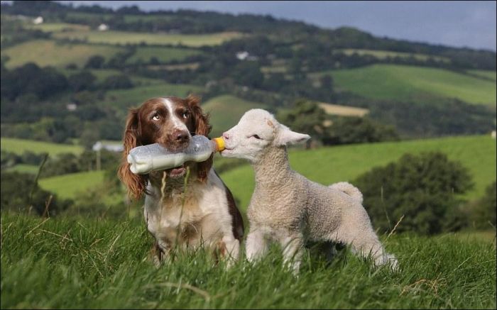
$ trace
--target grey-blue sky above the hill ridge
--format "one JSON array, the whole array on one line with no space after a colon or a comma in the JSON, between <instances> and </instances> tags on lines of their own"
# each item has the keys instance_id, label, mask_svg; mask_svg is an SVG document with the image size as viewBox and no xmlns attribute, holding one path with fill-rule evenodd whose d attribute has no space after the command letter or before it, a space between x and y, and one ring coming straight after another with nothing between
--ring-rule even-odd
<instances>
[{"instance_id":1,"label":"grey-blue sky above the hill ridge","mask_svg":"<svg viewBox=\"0 0 497 310\"><path fill-rule=\"evenodd\" d=\"M373 35L496 50L496 1L59 1L143 11L195 9L271 14L323 28L352 26Z\"/></svg>"}]
</instances>

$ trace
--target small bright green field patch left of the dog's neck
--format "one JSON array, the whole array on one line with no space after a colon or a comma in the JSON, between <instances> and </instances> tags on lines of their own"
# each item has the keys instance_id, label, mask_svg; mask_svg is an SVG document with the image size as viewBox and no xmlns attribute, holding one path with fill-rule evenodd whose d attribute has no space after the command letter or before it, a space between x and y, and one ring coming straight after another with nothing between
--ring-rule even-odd
<instances>
[{"instance_id":1,"label":"small bright green field patch left of the dog's neck","mask_svg":"<svg viewBox=\"0 0 497 310\"><path fill-rule=\"evenodd\" d=\"M70 173L39 180L42 189L53 192L64 199L75 198L78 193L100 187L103 182L104 171Z\"/></svg>"}]
</instances>

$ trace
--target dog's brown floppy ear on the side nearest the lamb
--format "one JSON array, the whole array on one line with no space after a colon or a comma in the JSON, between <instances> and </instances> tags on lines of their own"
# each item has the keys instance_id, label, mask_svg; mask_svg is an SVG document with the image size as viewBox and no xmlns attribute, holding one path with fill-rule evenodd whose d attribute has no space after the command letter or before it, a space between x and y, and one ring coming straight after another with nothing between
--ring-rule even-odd
<instances>
[{"instance_id":1,"label":"dog's brown floppy ear on the side nearest the lamb","mask_svg":"<svg viewBox=\"0 0 497 310\"><path fill-rule=\"evenodd\" d=\"M193 113L193 118L195 119L195 135L205 135L207 137L212 126L209 125L209 114L202 113L200 98L190 94L185 100L187 101L187 104ZM207 179L207 175L209 174L211 167L212 155L206 161L197 163L197 178L200 182L204 182Z\"/></svg>"}]
</instances>

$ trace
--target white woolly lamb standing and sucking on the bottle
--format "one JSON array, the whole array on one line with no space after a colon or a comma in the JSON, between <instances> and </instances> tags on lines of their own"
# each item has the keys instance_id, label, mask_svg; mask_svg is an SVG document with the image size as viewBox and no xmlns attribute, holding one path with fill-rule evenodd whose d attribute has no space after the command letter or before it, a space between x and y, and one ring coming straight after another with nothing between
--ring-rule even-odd
<instances>
[{"instance_id":1,"label":"white woolly lamb standing and sucking on the bottle","mask_svg":"<svg viewBox=\"0 0 497 310\"><path fill-rule=\"evenodd\" d=\"M245 158L255 171L256 187L247 212L249 261L264 255L268 241L276 241L285 262L298 272L307 241L333 241L371 255L377 266L389 263L396 269L397 260L385 252L373 231L359 189L346 182L325 187L290 169L286 145L304 142L309 135L290 131L268 111L253 109L223 137L222 156Z\"/></svg>"}]
</instances>

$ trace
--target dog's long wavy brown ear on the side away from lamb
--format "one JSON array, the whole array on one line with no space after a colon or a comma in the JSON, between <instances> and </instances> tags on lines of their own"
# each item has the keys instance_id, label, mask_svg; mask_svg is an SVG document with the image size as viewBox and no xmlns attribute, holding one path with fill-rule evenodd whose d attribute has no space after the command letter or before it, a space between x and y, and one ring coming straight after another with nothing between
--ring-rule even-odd
<instances>
[{"instance_id":1,"label":"dog's long wavy brown ear on the side away from lamb","mask_svg":"<svg viewBox=\"0 0 497 310\"><path fill-rule=\"evenodd\" d=\"M143 193L146 192L147 180L146 175L135 175L129 170L130 164L127 157L129 151L136 146L141 145L140 141L141 124L138 116L138 109L130 109L128 118L126 119L126 128L124 129L124 150L119 165L118 175L119 179L126 185L128 195L133 199L140 199Z\"/></svg>"}]
</instances>

